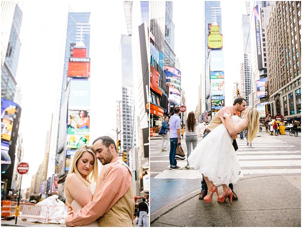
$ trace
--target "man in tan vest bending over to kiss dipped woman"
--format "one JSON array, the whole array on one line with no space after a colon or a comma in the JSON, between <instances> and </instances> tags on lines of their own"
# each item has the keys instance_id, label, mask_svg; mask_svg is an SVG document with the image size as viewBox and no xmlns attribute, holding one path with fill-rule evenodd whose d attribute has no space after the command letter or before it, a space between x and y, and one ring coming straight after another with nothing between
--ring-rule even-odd
<instances>
[{"instance_id":1,"label":"man in tan vest bending over to kiss dipped woman","mask_svg":"<svg viewBox=\"0 0 302 228\"><path fill-rule=\"evenodd\" d=\"M224 119L222 117L223 113L228 113L231 114L232 116L235 115L236 112L242 112L245 110L247 105L247 101L246 99L242 98L242 97L238 97L234 100L233 106L224 106L223 108L221 108L217 114L215 116L213 116L211 122L207 125L207 128L204 130L203 133L203 139L211 132L213 131L216 127L218 127L219 125L221 125L222 123L224 123ZM223 121L223 122L222 122ZM258 123L257 123L258 125ZM233 147L236 143L236 139L237 139L237 134L236 135L232 135L231 136L233 138ZM217 141L218 143L218 141ZM234 147L235 148L235 147ZM196 148L195 148L196 150ZM193 150L193 151L195 151ZM190 161L189 161L190 162ZM233 184L232 182L229 184L229 187L231 188L231 190L233 191L233 199L238 199L238 196L236 195L236 193L234 192L234 188L233 188ZM199 199L203 199L204 196L207 195L208 192L208 188L206 185L206 182L204 180L204 178L201 179L201 191L199 194Z\"/></svg>"}]
</instances>

